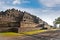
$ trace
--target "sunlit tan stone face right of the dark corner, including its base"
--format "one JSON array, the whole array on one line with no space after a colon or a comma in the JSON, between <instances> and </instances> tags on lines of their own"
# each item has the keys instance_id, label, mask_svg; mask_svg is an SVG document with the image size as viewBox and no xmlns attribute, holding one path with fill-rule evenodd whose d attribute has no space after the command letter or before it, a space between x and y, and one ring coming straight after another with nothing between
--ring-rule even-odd
<instances>
[{"instance_id":1,"label":"sunlit tan stone face right of the dark corner, including its base","mask_svg":"<svg viewBox=\"0 0 60 40\"><path fill-rule=\"evenodd\" d=\"M20 22L20 28L18 32L26 32L26 31L31 31L31 30L39 30L41 27L36 27L38 26L40 20L37 22L37 17L33 16L27 12L24 12L22 21Z\"/></svg>"}]
</instances>

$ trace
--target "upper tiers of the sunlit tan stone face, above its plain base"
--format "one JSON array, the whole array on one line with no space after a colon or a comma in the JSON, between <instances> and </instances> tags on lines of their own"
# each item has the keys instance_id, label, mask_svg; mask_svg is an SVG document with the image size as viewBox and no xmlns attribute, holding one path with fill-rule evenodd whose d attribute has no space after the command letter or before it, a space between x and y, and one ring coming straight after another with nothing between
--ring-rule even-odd
<instances>
[{"instance_id":1,"label":"upper tiers of the sunlit tan stone face, above its plain base","mask_svg":"<svg viewBox=\"0 0 60 40\"><path fill-rule=\"evenodd\" d=\"M35 27L38 23L35 23L34 21L33 15L24 12L20 27Z\"/></svg>"}]
</instances>

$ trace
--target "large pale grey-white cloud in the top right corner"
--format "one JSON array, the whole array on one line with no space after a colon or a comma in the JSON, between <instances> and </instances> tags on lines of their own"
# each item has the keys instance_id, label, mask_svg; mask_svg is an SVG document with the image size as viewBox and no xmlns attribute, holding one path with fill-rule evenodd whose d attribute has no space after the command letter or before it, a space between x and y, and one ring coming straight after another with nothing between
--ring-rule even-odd
<instances>
[{"instance_id":1,"label":"large pale grey-white cloud in the top right corner","mask_svg":"<svg viewBox=\"0 0 60 40\"><path fill-rule=\"evenodd\" d=\"M54 7L60 4L60 0L39 0L39 1L40 3L42 3L43 5L47 7Z\"/></svg>"}]
</instances>

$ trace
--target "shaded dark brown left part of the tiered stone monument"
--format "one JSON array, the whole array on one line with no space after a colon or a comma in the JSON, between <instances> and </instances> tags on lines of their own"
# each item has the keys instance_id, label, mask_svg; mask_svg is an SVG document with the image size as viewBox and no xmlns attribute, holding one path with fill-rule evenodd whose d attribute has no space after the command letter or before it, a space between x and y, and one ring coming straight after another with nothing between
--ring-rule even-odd
<instances>
[{"instance_id":1,"label":"shaded dark brown left part of the tiered stone monument","mask_svg":"<svg viewBox=\"0 0 60 40\"><path fill-rule=\"evenodd\" d=\"M15 29L18 29L22 15L23 13L21 11L15 9L8 9L4 12L0 12L0 32L14 31Z\"/></svg>"}]
</instances>

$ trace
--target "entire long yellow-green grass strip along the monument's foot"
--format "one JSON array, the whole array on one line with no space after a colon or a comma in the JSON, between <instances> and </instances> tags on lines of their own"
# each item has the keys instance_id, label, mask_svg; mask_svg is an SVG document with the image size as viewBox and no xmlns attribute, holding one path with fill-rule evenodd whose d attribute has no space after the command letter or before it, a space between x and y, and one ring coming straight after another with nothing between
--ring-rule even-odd
<instances>
[{"instance_id":1,"label":"entire long yellow-green grass strip along the monument's foot","mask_svg":"<svg viewBox=\"0 0 60 40\"><path fill-rule=\"evenodd\" d=\"M51 31L55 31L56 29L52 29ZM23 36L23 35L34 35L38 34L41 32L46 32L48 30L34 30L34 31L29 31L29 32L21 32L21 33L13 33L13 32L5 32L5 33L0 33L0 36ZM50 30L49 30L50 31Z\"/></svg>"}]
</instances>

